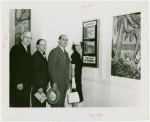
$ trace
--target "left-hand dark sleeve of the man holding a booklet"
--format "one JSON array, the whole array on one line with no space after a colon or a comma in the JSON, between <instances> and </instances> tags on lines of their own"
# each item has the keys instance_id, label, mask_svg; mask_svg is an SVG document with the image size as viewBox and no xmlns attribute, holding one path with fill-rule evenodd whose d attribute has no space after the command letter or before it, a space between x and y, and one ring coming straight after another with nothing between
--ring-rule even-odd
<instances>
[{"instance_id":1,"label":"left-hand dark sleeve of the man holding a booklet","mask_svg":"<svg viewBox=\"0 0 150 122\"><path fill-rule=\"evenodd\" d=\"M32 57L33 64L33 86L36 89L43 88L43 81L41 78L40 61L38 55Z\"/></svg>"}]
</instances>

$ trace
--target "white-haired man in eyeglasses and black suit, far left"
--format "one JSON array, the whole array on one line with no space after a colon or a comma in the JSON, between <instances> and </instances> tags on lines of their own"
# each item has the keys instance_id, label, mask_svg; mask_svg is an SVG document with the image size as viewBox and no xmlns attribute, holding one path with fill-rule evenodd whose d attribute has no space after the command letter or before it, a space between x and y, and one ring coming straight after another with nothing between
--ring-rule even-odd
<instances>
[{"instance_id":1,"label":"white-haired man in eyeglasses and black suit, far left","mask_svg":"<svg viewBox=\"0 0 150 122\"><path fill-rule=\"evenodd\" d=\"M30 31L21 35L21 43L10 51L10 107L29 107L32 79L32 58L29 45Z\"/></svg>"}]
</instances>

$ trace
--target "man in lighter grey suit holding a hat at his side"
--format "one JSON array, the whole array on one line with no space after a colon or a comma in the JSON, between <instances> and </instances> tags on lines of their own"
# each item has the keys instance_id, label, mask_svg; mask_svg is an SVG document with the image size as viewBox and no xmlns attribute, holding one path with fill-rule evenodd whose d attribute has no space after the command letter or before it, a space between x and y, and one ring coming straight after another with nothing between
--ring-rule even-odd
<instances>
[{"instance_id":1,"label":"man in lighter grey suit holding a hat at his side","mask_svg":"<svg viewBox=\"0 0 150 122\"><path fill-rule=\"evenodd\" d=\"M58 103L51 107L65 107L65 97L69 86L70 59L65 47L68 44L66 35L61 35L58 40L58 46L51 50L48 58L48 70L50 83L53 89L60 91Z\"/></svg>"}]
</instances>

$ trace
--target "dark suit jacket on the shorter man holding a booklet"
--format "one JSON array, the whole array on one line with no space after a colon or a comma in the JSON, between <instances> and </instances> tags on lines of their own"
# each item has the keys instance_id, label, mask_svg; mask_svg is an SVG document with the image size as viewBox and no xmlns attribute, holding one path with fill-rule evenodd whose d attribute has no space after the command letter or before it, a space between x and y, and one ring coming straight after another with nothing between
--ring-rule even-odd
<instances>
[{"instance_id":1,"label":"dark suit jacket on the shorter man holding a booklet","mask_svg":"<svg viewBox=\"0 0 150 122\"><path fill-rule=\"evenodd\" d=\"M43 57L41 52L37 50L32 56L32 64L33 64L33 91L37 92L39 88L43 88L44 92L46 92L47 85L49 82L48 75L48 62L46 58Z\"/></svg>"}]
</instances>

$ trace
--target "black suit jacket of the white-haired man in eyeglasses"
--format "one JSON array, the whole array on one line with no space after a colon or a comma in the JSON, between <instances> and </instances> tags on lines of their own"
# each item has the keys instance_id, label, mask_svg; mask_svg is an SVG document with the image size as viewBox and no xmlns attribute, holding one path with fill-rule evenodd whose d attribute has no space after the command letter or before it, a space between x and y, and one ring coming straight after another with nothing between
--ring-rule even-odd
<instances>
[{"instance_id":1,"label":"black suit jacket of the white-haired man in eyeglasses","mask_svg":"<svg viewBox=\"0 0 150 122\"><path fill-rule=\"evenodd\" d=\"M10 51L10 76L11 90L17 89L20 83L23 83L23 90L31 89L32 58L22 43L13 46Z\"/></svg>"}]
</instances>

